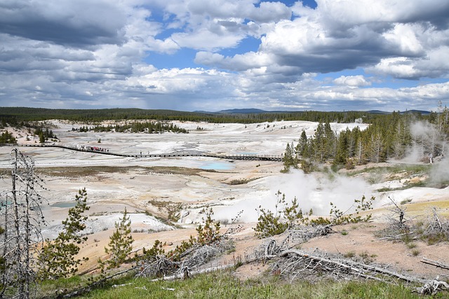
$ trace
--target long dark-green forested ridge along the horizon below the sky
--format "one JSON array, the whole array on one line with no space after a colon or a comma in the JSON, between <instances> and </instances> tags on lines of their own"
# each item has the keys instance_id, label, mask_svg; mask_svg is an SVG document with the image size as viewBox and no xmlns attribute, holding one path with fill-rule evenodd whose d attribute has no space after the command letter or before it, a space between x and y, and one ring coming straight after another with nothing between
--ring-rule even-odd
<instances>
[{"instance_id":1,"label":"long dark-green forested ridge along the horizon below the sky","mask_svg":"<svg viewBox=\"0 0 449 299\"><path fill-rule=\"evenodd\" d=\"M251 109L248 109L251 111ZM422 113L415 112L421 116ZM174 110L148 110L135 108L116 109L44 109L26 107L0 107L1 125L20 125L22 122L62 119L81 122L99 122L102 120L182 120L205 121L208 123L262 123L274 120L308 120L321 123L354 123L363 118L364 123L384 114L369 111L260 111L242 113L241 111L187 112Z\"/></svg>"}]
</instances>

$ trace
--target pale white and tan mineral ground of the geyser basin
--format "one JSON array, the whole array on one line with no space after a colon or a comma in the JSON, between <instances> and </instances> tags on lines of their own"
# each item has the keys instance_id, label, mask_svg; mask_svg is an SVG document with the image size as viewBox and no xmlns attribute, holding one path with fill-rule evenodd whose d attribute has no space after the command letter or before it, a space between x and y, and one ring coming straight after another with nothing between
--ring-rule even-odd
<instances>
[{"instance_id":1,"label":"pale white and tan mineral ground of the geyser basin","mask_svg":"<svg viewBox=\"0 0 449 299\"><path fill-rule=\"evenodd\" d=\"M276 121L260 124L211 124L173 122L179 127L190 130L189 134L128 134L113 132L72 132L72 127L84 124L52 120L53 133L60 141L56 144L65 146L100 146L113 153L130 155L146 155L156 153L210 153L210 154L259 154L281 155L288 142L295 142L302 130L308 136L314 134L317 123L304 121ZM364 130L364 124L332 123L335 131L352 129L359 126ZM201 127L203 130L196 130ZM18 137L18 144L36 144L37 137L29 137L27 133L13 128L8 129ZM98 140L101 143L98 143ZM52 142L53 143L53 142ZM0 147L0 171L10 167L9 153L11 148ZM287 200L297 197L303 211L314 210L314 214L326 216L329 202L333 202L345 211L355 199L362 195L375 201L374 222L361 225L346 225L336 230L347 230L348 235L333 234L321 237L304 244L302 248L319 247L323 250L345 253L368 252L380 263L396 263L403 270L417 274L441 274L435 267L420 263L420 257L426 256L434 260L445 260L449 263L449 253L441 249L447 244L428 246L417 241L419 256L412 255L405 244L395 244L389 241L377 240L373 230L384 225L390 204L388 197L396 202L410 201L410 210L415 214L424 214L428 206L443 207L448 214L448 188L409 188L395 190L389 193L377 192L380 188L397 188L407 180L420 178L392 177L381 183L370 184L363 176L347 177L335 174L333 179L323 174L304 175L301 170L290 174L281 174L282 162L220 160L205 157L181 158L121 158L100 153L69 151L62 148L20 147L20 151L29 155L35 161L36 169L45 170L41 178L45 187L41 195L46 197L48 204L43 207L47 225L43 228L44 237L55 237L62 228L61 221L67 217L67 211L74 202L74 195L80 188L86 188L88 193L89 233L87 244L83 245L81 254L89 256L83 270L95 267L98 257L104 257L104 247L109 242L109 235L114 230L114 223L121 217L126 208L130 212L132 222L134 249L151 247L155 239L170 244L177 244L194 235L197 223L201 223L201 209L213 207L214 218L227 223L243 211L239 222L245 228L235 236L235 256L244 256L260 241L253 237L252 227L257 221L256 208L262 206L272 209L276 203L275 193L280 190L286 194ZM443 160L444 162L444 160ZM440 163L443 163L440 162ZM396 164L388 162L382 166ZM443 164L441 164L443 165ZM368 167L364 165L361 169ZM444 165L443 165L444 166ZM441 167L443 167L441 166ZM78 168L77 168L78 167ZM75 172L81 176L71 175L73 169L79 167L123 167L115 172ZM145 167L185 167L189 172L176 174L163 173L160 170L151 171ZM435 163L438 167L438 163ZM441 168L440 167L440 168ZM444 166L445 167L445 166ZM443 169L444 169L443 167ZM52 170L53 169L53 170ZM208 170L212 169L212 171ZM168 168L166 169L168 172ZM52 173L50 173L52 172ZM447 172L447 170L446 170ZM248 183L230 184L234 180L247 180ZM11 182L0 181L0 190L10 188ZM166 207L182 204L177 211L180 221L177 226L167 225L154 216L166 217ZM413 209L413 204L421 204L419 209ZM147 212L147 213L146 213ZM154 215L154 216L150 216ZM240 269L240 268L239 268ZM262 272L262 265L241 267L237 274L241 277Z\"/></svg>"}]
</instances>

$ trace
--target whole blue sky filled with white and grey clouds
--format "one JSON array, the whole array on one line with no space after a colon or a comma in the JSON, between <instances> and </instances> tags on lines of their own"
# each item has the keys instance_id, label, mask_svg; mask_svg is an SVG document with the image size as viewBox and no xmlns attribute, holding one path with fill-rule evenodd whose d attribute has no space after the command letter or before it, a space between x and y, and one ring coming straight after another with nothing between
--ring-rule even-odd
<instances>
[{"instance_id":1,"label":"whole blue sky filled with white and grey clouds","mask_svg":"<svg viewBox=\"0 0 449 299\"><path fill-rule=\"evenodd\" d=\"M435 111L438 101L449 105L448 0L0 1L0 106Z\"/></svg>"}]
</instances>

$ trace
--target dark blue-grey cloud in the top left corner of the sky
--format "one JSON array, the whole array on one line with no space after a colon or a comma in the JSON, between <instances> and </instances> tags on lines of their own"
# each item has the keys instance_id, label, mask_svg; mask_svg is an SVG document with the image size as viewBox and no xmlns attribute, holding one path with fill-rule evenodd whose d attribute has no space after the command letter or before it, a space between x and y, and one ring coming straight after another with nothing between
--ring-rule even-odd
<instances>
[{"instance_id":1,"label":"dark blue-grey cloud in the top left corner of the sky","mask_svg":"<svg viewBox=\"0 0 449 299\"><path fill-rule=\"evenodd\" d=\"M123 12L109 1L6 1L0 32L67 46L123 43Z\"/></svg>"}]
</instances>

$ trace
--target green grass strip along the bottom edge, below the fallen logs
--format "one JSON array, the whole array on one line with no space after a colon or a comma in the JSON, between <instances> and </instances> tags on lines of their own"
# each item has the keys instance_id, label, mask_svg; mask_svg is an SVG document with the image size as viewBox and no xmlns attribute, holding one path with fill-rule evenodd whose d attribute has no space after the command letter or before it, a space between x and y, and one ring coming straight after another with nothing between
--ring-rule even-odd
<instances>
[{"instance_id":1,"label":"green grass strip along the bottom edge, below the fallen logs","mask_svg":"<svg viewBox=\"0 0 449 299\"><path fill-rule=\"evenodd\" d=\"M230 272L203 274L177 281L122 279L114 281L114 284L126 285L113 288L109 284L78 298L423 298L411 293L406 286L379 281L319 281L311 284L298 279L289 284L276 277L241 281Z\"/></svg>"}]
</instances>

